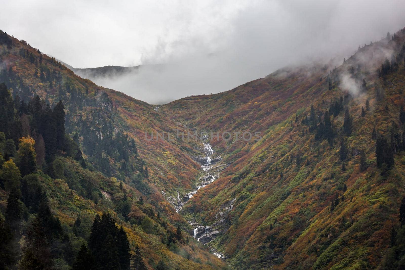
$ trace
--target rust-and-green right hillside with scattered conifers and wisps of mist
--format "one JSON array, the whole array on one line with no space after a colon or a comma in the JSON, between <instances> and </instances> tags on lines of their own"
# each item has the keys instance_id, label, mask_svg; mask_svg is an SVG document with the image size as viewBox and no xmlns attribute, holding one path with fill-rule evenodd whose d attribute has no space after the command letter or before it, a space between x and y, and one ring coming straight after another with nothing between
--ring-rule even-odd
<instances>
[{"instance_id":1,"label":"rust-and-green right hillside with scattered conifers and wisps of mist","mask_svg":"<svg viewBox=\"0 0 405 270\"><path fill-rule=\"evenodd\" d=\"M210 142L230 166L183 208L220 231L231 268L405 267L404 34L160 107L232 134Z\"/></svg>"}]
</instances>

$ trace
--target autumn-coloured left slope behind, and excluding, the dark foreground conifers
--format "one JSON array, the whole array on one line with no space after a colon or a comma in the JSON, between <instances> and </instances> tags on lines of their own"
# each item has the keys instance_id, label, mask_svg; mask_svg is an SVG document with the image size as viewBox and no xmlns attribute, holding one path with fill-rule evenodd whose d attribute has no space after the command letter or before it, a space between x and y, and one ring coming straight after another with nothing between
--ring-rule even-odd
<instances>
[{"instance_id":1,"label":"autumn-coloured left slope behind, and excluding, the dark foreground conifers","mask_svg":"<svg viewBox=\"0 0 405 270\"><path fill-rule=\"evenodd\" d=\"M7 145L14 140L15 146L19 137L35 139L27 140L35 145L36 168L32 174L19 179L21 191L26 190L27 183L28 190L38 188L41 194L46 192L41 198L47 201L44 205L49 205L49 212L45 208L49 214L47 218L55 220L57 229L62 230L60 241L63 243L60 245L68 245L69 254L76 255L81 244L88 240L96 214L107 212L124 227L132 254L136 252L136 246L141 248L143 261L149 269L158 265L172 269L219 269L224 266L207 248L181 232L181 228L189 229L190 225L162 195L162 191L166 191L166 196L176 196L176 190L191 189L193 181L202 173L191 156L198 155L202 145L181 140L149 141L145 131L162 134L172 128L184 128L159 115L145 102L76 76L23 40L0 32L0 47L0 81L6 84L2 89L2 102L10 105L9 111L1 111L4 140ZM8 101L9 92L14 100ZM65 108L62 111L66 113L64 125L63 121L58 122L58 127L62 130L60 125L63 125L63 133L66 128L68 136L64 145L51 149L47 136L54 134L49 128L55 126L52 117L45 117L53 115L55 108L61 108L55 106L58 100L62 100ZM11 124L6 128L4 123L9 122ZM41 146L43 144L45 147ZM7 153L4 155L7 164L11 164L12 159L18 160L15 150L13 153L6 149L9 148L2 148L1 153ZM4 159L0 159L1 163ZM0 208L2 215L7 216L12 196L3 186L7 179L1 180ZM37 193L30 193L30 196L36 198ZM24 204L26 199L26 196L21 198ZM32 236L30 231L31 225L35 228L33 220L41 215L35 209L27 208L28 212L18 223L21 231L13 234L21 239L28 237L28 244L31 239L41 239ZM3 229L3 217L0 221ZM9 222L7 218L5 222ZM19 243L13 243L17 250L14 264L18 264L21 247ZM28 249L28 246L24 247L24 241L21 245ZM55 245L60 248L56 242ZM72 265L74 256L66 255L67 251L61 251L62 254L52 251L55 268ZM24 251L24 254L30 253ZM23 259L21 264L25 262Z\"/></svg>"}]
</instances>

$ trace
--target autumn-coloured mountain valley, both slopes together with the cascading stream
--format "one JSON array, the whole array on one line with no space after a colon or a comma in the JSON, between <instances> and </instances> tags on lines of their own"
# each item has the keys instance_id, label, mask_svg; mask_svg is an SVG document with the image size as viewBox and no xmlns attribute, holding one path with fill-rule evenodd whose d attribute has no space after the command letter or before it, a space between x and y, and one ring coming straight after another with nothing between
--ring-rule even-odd
<instances>
[{"instance_id":1,"label":"autumn-coloured mountain valley, both slopes together with the cascading stream","mask_svg":"<svg viewBox=\"0 0 405 270\"><path fill-rule=\"evenodd\" d=\"M405 267L405 29L159 108L0 44L7 264L125 268L127 239L137 268Z\"/></svg>"}]
</instances>

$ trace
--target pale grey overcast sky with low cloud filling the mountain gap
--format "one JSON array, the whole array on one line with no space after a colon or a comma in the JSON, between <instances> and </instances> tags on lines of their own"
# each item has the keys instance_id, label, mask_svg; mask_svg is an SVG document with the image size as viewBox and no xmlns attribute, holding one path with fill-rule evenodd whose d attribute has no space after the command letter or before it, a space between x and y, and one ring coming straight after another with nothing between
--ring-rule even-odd
<instances>
[{"instance_id":1,"label":"pale grey overcast sky with low cloud filling the mountain gap","mask_svg":"<svg viewBox=\"0 0 405 270\"><path fill-rule=\"evenodd\" d=\"M405 27L403 0L3 1L0 29L75 68L145 68L96 83L153 104L287 64L349 57Z\"/></svg>"}]
</instances>

